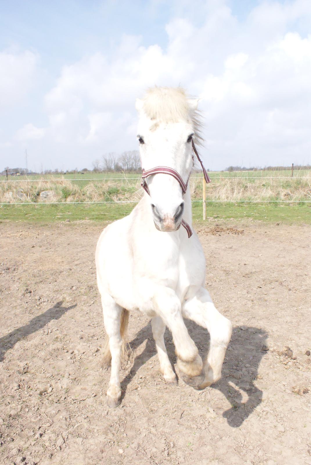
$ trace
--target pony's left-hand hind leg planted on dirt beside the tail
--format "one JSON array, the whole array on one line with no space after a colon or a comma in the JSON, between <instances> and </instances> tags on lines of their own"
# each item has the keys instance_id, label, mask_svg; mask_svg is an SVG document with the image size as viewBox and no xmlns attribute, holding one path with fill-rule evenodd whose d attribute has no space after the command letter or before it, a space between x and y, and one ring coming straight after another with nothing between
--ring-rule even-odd
<instances>
[{"instance_id":1,"label":"pony's left-hand hind leg planted on dirt beside the tail","mask_svg":"<svg viewBox=\"0 0 311 465\"><path fill-rule=\"evenodd\" d=\"M121 386L119 372L121 367L122 352L125 351L124 340L128 324L128 311L117 305L112 297L106 295L101 298L104 314L104 325L109 337L108 346L105 349L104 361L111 359L111 375L107 390L107 404L109 407L117 407L121 403Z\"/></svg>"}]
</instances>

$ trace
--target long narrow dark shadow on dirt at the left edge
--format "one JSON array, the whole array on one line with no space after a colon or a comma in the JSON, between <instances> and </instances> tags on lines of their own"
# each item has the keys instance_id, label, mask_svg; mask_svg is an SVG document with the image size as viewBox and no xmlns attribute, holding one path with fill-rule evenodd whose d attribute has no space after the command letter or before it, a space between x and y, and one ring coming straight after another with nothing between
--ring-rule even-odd
<instances>
[{"instance_id":1,"label":"long narrow dark shadow on dirt at the left edge","mask_svg":"<svg viewBox=\"0 0 311 465\"><path fill-rule=\"evenodd\" d=\"M20 326L13 331L9 332L6 336L0 338L0 362L3 361L5 353L14 347L20 339L26 338L33 332L42 329L53 319L60 319L68 310L76 307L77 304L70 307L63 307L62 301L57 302L53 307L46 310L46 312L32 318L26 325Z\"/></svg>"}]
</instances>

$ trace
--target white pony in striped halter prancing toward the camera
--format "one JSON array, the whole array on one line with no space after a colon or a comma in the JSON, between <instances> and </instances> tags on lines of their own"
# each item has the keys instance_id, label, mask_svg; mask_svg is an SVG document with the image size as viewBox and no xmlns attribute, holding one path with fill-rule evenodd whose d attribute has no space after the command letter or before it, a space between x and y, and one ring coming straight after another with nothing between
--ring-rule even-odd
<instances>
[{"instance_id":1,"label":"white pony in striped halter prancing toward the camera","mask_svg":"<svg viewBox=\"0 0 311 465\"><path fill-rule=\"evenodd\" d=\"M221 376L232 324L218 312L204 288L205 257L197 234L191 231L187 189L193 140L200 140L197 105L198 100L187 98L180 88L155 87L143 100L136 100L146 193L130 215L106 227L95 254L109 337L105 360L111 360L110 407L121 401L119 370L129 312L151 318L160 369L167 383L176 385L177 379L165 348L165 326L172 332L179 376L185 383L203 389ZM184 318L210 333L204 363Z\"/></svg>"}]
</instances>

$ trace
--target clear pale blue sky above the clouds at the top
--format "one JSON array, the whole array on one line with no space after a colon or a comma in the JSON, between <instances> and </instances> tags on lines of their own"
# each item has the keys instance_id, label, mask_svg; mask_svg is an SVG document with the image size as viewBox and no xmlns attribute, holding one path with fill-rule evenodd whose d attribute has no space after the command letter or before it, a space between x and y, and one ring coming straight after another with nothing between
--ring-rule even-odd
<instances>
[{"instance_id":1,"label":"clear pale blue sky above the clouds at the top","mask_svg":"<svg viewBox=\"0 0 311 465\"><path fill-rule=\"evenodd\" d=\"M169 1L1 1L0 48L40 53L50 79L60 67L94 52L113 54L123 34L138 35L144 46L167 45L165 24L175 16L200 26L206 2ZM258 0L227 2L244 20ZM198 5L198 7L195 7Z\"/></svg>"}]
</instances>

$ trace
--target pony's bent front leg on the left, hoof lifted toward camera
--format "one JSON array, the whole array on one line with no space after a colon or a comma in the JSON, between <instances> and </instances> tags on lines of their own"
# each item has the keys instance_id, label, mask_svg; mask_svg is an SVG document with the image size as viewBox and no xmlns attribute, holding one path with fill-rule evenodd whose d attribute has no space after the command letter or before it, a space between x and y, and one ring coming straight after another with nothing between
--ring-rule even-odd
<instances>
[{"instance_id":1,"label":"pony's bent front leg on the left, hoof lifted toward camera","mask_svg":"<svg viewBox=\"0 0 311 465\"><path fill-rule=\"evenodd\" d=\"M179 298L172 289L159 286L159 289L153 294L153 302L155 312L172 332L181 378L192 387L201 385L205 379L202 359L188 334L181 314Z\"/></svg>"}]
</instances>

